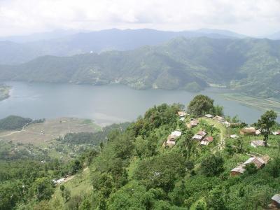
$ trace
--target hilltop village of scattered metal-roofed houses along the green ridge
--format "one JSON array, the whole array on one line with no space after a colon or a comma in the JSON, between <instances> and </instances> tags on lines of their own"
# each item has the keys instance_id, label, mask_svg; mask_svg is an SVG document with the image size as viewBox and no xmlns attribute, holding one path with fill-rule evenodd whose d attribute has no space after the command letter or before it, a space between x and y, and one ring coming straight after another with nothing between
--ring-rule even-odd
<instances>
[{"instance_id":1,"label":"hilltop village of scattered metal-roofed houses along the green ridge","mask_svg":"<svg viewBox=\"0 0 280 210\"><path fill-rule=\"evenodd\" d=\"M197 142L197 146L204 147L210 146L214 141L218 141L216 144L219 149L225 148L225 141L237 141L240 137L248 137L252 139L247 146L252 149L265 147L265 141L262 140L261 130L257 130L253 126L246 126L237 129L239 123L231 123L225 120L222 116L212 116L211 114L205 114L201 118L191 118L190 114L186 111L179 111L178 113L179 123L184 123L189 130L193 130L195 133L192 141ZM220 135L219 138L213 136L213 133L207 132L200 124L207 122L210 127L218 128ZM233 129L231 129L233 128ZM211 130L212 132L212 130ZM180 129L176 129L167 137L166 141L162 144L162 147L173 148L179 141L183 132ZM271 133L273 136L280 137L280 130L275 130ZM270 145L267 144L269 147ZM238 165L231 169L230 176L240 176L246 172L246 166L254 165L256 169L262 169L269 162L269 155L261 154L251 151L250 153L244 153L248 159L244 162L239 162ZM280 194L275 194L271 198L270 207L272 209L280 209Z\"/></svg>"}]
</instances>

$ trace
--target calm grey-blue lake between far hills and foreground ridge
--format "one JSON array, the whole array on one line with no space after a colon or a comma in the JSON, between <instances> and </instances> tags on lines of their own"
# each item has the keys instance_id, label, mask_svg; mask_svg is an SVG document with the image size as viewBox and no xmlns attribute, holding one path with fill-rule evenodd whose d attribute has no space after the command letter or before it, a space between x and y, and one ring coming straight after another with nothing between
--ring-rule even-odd
<instances>
[{"instance_id":1,"label":"calm grey-blue lake between far hills and foreground ridge","mask_svg":"<svg viewBox=\"0 0 280 210\"><path fill-rule=\"evenodd\" d=\"M7 82L10 98L0 102L0 118L18 115L29 118L62 116L90 118L100 125L135 120L155 104L188 104L196 95L184 90L133 90L125 85L73 85L50 83ZM225 91L209 88L207 94L216 104L224 106L225 115L238 115L253 123L263 113L219 96Z\"/></svg>"}]
</instances>

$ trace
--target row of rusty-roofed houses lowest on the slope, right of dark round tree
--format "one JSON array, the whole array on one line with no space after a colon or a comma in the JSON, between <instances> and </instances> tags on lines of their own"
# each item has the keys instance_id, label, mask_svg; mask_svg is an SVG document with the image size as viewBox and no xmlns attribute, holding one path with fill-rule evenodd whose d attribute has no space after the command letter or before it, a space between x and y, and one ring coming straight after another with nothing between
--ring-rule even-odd
<instances>
[{"instance_id":1,"label":"row of rusty-roofed houses lowest on the slope, right of dark round tree","mask_svg":"<svg viewBox=\"0 0 280 210\"><path fill-rule=\"evenodd\" d=\"M246 171L245 167L246 167L246 165L249 165L249 164L255 165L255 167L257 169L261 169L262 167L264 167L267 164L268 160L269 160L268 156L264 156L262 158L256 157L256 156L251 157L248 160L246 160L244 163L241 163L241 165L232 169L230 171L230 175L237 176L240 174L244 174L244 172Z\"/></svg>"}]
</instances>

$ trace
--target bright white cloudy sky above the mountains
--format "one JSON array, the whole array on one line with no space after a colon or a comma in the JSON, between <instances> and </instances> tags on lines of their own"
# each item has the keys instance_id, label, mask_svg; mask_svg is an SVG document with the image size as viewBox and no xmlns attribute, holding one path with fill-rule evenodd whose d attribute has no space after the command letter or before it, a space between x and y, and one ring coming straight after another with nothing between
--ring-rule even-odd
<instances>
[{"instance_id":1,"label":"bright white cloudy sky above the mountains","mask_svg":"<svg viewBox=\"0 0 280 210\"><path fill-rule=\"evenodd\" d=\"M280 31L280 0L0 0L0 36L55 29Z\"/></svg>"}]
</instances>

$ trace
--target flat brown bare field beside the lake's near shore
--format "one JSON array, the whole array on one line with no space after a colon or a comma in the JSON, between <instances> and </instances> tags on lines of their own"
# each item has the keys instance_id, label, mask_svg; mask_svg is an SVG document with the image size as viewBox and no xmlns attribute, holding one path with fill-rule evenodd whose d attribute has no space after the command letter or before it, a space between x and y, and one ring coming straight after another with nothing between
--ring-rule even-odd
<instances>
[{"instance_id":1,"label":"flat brown bare field beside the lake's near shore","mask_svg":"<svg viewBox=\"0 0 280 210\"><path fill-rule=\"evenodd\" d=\"M20 131L0 132L0 139L4 141L20 142L23 144L43 144L67 133L97 132L101 128L90 120L80 118L57 118L45 120L24 127Z\"/></svg>"}]
</instances>

